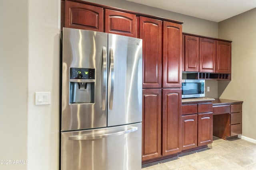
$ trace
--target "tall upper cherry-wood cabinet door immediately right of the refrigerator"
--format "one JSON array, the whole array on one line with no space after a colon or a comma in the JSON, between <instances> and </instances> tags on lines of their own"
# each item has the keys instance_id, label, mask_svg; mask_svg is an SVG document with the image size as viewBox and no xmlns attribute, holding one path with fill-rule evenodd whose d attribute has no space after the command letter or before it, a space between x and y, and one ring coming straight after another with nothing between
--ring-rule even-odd
<instances>
[{"instance_id":1,"label":"tall upper cherry-wood cabinet door immediately right of the refrigerator","mask_svg":"<svg viewBox=\"0 0 256 170\"><path fill-rule=\"evenodd\" d=\"M143 42L143 88L162 87L162 21L140 17Z\"/></svg>"}]
</instances>

